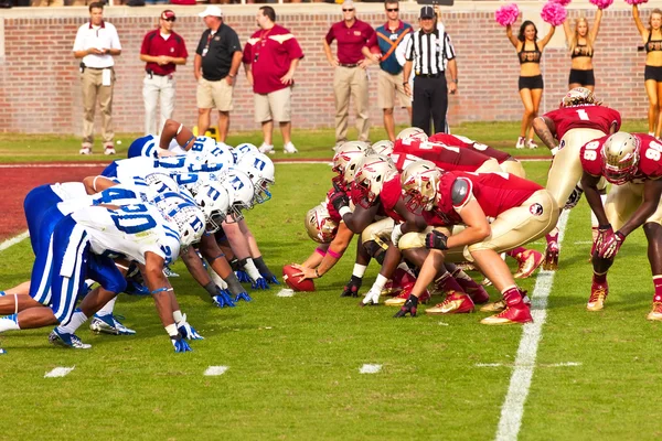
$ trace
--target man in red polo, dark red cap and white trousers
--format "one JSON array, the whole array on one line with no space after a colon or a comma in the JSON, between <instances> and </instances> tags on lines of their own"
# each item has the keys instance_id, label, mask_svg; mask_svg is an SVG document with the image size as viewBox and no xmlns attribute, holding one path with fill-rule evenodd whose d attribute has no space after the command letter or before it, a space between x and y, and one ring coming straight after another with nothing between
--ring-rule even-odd
<instances>
[{"instance_id":1,"label":"man in red polo, dark red cap and white trousers","mask_svg":"<svg viewBox=\"0 0 662 441\"><path fill-rule=\"evenodd\" d=\"M174 69L186 64L186 44L172 31L174 12L161 12L159 28L142 39L140 60L146 62L142 98L145 100L145 135L158 135L174 110ZM161 119L157 126L157 103L161 104Z\"/></svg>"}]
</instances>

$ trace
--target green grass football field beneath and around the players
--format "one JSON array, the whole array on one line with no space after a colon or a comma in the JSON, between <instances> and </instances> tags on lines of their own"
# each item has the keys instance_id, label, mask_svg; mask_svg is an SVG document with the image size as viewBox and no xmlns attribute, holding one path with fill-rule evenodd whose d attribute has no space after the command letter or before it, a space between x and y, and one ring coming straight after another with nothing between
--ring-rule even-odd
<instances>
[{"instance_id":1,"label":"green grass football field beneath and around the players","mask_svg":"<svg viewBox=\"0 0 662 441\"><path fill-rule=\"evenodd\" d=\"M642 121L626 128L644 129ZM461 129L456 131L494 146L514 143L517 130L512 123ZM301 157L330 158L330 131L297 137ZM130 137L122 139L128 146ZM255 133L242 140L259 143ZM0 161L78 160L77 146L73 138L3 135ZM530 179L544 183L546 161L525 168ZM274 198L247 218L266 262L279 272L316 248L302 218L324 197L331 172L323 164L277 164L276 173ZM569 214L562 244L521 440L662 438L654 417L662 327L645 320L653 293L645 238L641 230L628 237L599 313L585 309L589 241L589 209L581 201ZM544 244L532 247L542 250ZM481 325L488 314L480 312L426 316L421 311L416 319L395 320L393 308L361 309L359 299L339 297L353 256L352 244L317 281L316 292L280 298L278 289L253 291L253 302L224 310L213 308L177 263L178 299L205 336L191 344L193 353L173 353L151 299L126 294L116 312L138 331L136 336L98 336L81 329L78 335L93 348L66 351L49 345L47 329L3 334L0 439L494 439L522 327ZM29 279L31 261L26 240L0 251L0 289ZM377 271L373 262L362 292ZM534 276L521 286L531 293L535 282ZM493 288L488 290L495 299ZM360 374L364 364L382 370ZM57 366L75 369L44 378ZM209 366L228 369L203 376Z\"/></svg>"}]
</instances>

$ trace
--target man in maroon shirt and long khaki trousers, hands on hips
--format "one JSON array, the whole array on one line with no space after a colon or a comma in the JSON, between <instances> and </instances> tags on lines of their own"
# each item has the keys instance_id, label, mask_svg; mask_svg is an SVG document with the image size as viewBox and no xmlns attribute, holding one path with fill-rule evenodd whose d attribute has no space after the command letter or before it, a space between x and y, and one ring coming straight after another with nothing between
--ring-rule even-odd
<instances>
[{"instance_id":1,"label":"man in maroon shirt and long khaki trousers, hands on hips","mask_svg":"<svg viewBox=\"0 0 662 441\"><path fill-rule=\"evenodd\" d=\"M373 63L371 49L377 45L375 30L366 22L356 19L352 0L342 3L342 13L343 20L333 23L324 37L327 60L335 67L333 93L337 147L348 141L350 95L354 96L359 140L369 141L367 72L365 69ZM335 57L331 53L333 40L338 41Z\"/></svg>"}]
</instances>

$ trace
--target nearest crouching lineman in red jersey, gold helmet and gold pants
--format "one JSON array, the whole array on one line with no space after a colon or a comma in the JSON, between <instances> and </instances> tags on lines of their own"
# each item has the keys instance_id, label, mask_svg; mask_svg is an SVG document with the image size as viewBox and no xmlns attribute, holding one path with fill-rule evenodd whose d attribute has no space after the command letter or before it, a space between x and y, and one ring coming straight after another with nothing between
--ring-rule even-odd
<instances>
[{"instance_id":1,"label":"nearest crouching lineman in red jersey, gold helmet and gold pants","mask_svg":"<svg viewBox=\"0 0 662 441\"><path fill-rule=\"evenodd\" d=\"M554 228L558 205L549 192L508 173L442 172L429 161L408 165L401 182L409 197L408 208L420 211L433 229L401 238L401 244L418 240L419 246L430 252L412 294L395 316L416 315L418 297L444 265L446 254L461 250L503 295L502 305L495 304L492 310L505 309L481 323L531 322L528 298L517 288L499 254L535 240ZM494 220L490 224L488 217ZM465 229L447 236L438 227L448 225L463 225Z\"/></svg>"}]
</instances>

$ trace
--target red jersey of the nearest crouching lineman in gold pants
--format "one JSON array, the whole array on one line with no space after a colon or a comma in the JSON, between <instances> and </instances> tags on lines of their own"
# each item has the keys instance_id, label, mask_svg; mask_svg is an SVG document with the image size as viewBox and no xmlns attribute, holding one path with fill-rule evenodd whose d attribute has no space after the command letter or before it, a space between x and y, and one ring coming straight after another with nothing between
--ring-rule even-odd
<instances>
[{"instance_id":1,"label":"red jersey of the nearest crouching lineman in gold pants","mask_svg":"<svg viewBox=\"0 0 662 441\"><path fill-rule=\"evenodd\" d=\"M453 203L452 185L457 180L465 180L469 191L462 201ZM509 173L463 173L446 172L437 186L440 195L439 205L434 213L424 212L426 220L431 215L447 219L451 224L462 224L460 212L471 200L476 200L488 217L498 217L501 213L517 207L543 187L535 182L517 178ZM448 224L428 224L433 226Z\"/></svg>"}]
</instances>

